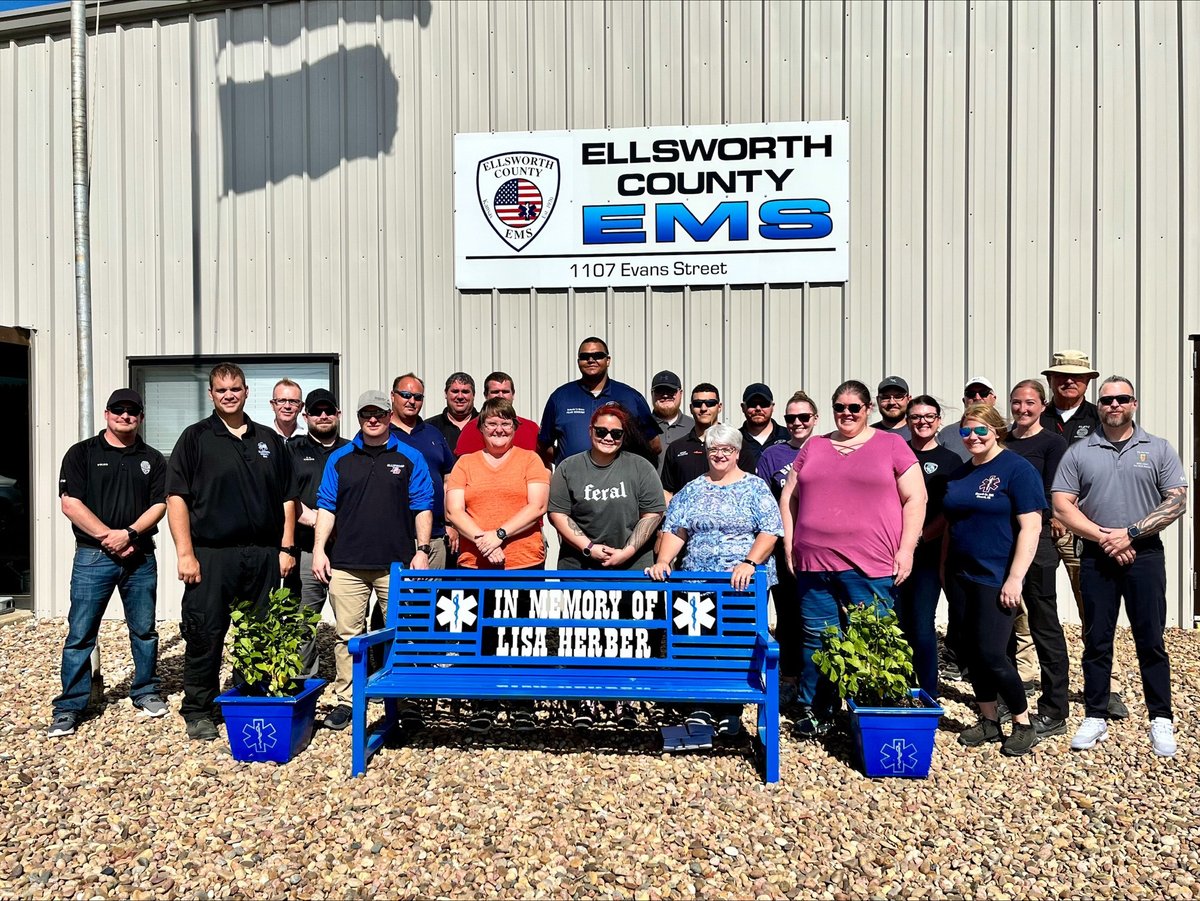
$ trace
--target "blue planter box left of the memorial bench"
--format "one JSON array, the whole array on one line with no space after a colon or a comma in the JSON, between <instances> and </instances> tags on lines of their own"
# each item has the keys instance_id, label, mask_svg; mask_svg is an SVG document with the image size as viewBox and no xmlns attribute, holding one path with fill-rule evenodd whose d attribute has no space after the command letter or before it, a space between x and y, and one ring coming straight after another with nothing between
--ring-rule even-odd
<instances>
[{"instance_id":1,"label":"blue planter box left of the memorial bench","mask_svg":"<svg viewBox=\"0 0 1200 901\"><path fill-rule=\"evenodd\" d=\"M244 695L239 685L217 697L234 759L287 763L300 753L312 739L325 684L305 679L300 693L278 698Z\"/></svg>"}]
</instances>

